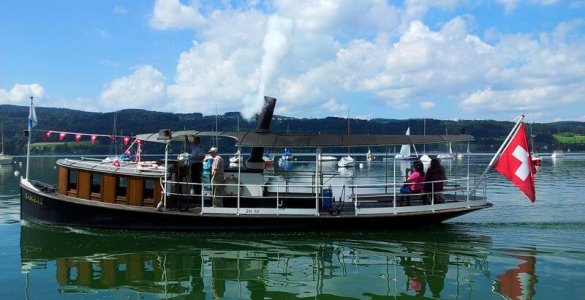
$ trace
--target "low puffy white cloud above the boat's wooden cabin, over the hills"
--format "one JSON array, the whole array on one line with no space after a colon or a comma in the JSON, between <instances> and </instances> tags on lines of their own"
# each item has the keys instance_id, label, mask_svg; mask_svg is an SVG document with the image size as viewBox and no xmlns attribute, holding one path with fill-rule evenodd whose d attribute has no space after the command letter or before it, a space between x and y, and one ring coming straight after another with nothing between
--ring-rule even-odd
<instances>
[{"instance_id":1,"label":"low puffy white cloud above the boat's wooden cabin, over the hills","mask_svg":"<svg viewBox=\"0 0 585 300\"><path fill-rule=\"evenodd\" d=\"M152 66L136 68L129 76L108 83L100 95L102 107L109 111L122 108L166 110L164 76Z\"/></svg>"}]
</instances>

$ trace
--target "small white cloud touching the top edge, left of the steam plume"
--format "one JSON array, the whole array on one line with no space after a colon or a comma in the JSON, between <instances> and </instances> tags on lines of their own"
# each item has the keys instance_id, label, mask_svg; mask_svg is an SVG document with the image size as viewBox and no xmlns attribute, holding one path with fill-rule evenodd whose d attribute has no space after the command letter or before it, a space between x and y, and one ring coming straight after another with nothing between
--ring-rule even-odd
<instances>
[{"instance_id":1,"label":"small white cloud touching the top edge, left of the steam plume","mask_svg":"<svg viewBox=\"0 0 585 300\"><path fill-rule=\"evenodd\" d=\"M192 1L183 5L179 0L156 0L150 26L156 29L197 29L205 24L205 18L199 13L198 4Z\"/></svg>"}]
</instances>

